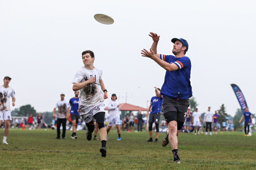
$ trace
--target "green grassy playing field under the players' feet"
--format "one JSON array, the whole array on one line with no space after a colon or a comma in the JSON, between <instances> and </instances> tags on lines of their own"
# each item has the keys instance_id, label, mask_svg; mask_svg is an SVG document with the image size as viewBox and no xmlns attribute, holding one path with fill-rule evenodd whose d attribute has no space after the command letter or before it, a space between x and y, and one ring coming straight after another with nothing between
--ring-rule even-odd
<instances>
[{"instance_id":1,"label":"green grassy playing field under the players' feet","mask_svg":"<svg viewBox=\"0 0 256 170\"><path fill-rule=\"evenodd\" d=\"M1 141L4 130L0 129ZM217 135L180 134L181 164L173 163L170 145L145 142L148 132L121 132L121 141L112 130L108 134L107 157L99 152L101 142L87 141L86 131L78 139L54 139L56 130L10 129L7 142L0 144L1 169L256 169L256 133L219 132ZM155 133L153 134L153 139ZM99 138L99 134L98 134Z\"/></svg>"}]
</instances>

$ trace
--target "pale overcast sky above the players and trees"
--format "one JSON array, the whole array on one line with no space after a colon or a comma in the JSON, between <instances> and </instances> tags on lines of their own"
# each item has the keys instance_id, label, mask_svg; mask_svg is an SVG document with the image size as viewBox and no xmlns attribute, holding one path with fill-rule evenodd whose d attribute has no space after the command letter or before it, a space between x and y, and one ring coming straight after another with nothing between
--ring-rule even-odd
<instances>
[{"instance_id":1,"label":"pale overcast sky above the players and trees","mask_svg":"<svg viewBox=\"0 0 256 170\"><path fill-rule=\"evenodd\" d=\"M242 90L251 113L255 105L256 1L13 1L0 0L0 78L8 75L16 105L52 111L74 97L72 81L83 66L81 53L95 54L94 66L120 103L149 106L165 70L142 57L149 32L160 35L157 52L172 54L172 38L184 38L191 60L191 86L199 111L225 104L234 115L240 105L230 84ZM112 25L97 22L103 13Z\"/></svg>"}]
</instances>

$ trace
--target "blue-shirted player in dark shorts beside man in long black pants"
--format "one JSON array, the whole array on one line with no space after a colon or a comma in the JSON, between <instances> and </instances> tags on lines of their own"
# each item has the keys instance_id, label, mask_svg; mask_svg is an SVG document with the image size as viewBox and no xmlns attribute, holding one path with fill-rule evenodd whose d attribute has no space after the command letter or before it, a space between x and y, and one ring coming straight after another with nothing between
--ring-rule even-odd
<instances>
[{"instance_id":1,"label":"blue-shirted player in dark shorts beside man in long black pants","mask_svg":"<svg viewBox=\"0 0 256 170\"><path fill-rule=\"evenodd\" d=\"M69 100L69 105L70 107L68 108L68 114L67 114L67 120L69 119L68 116L70 114L70 119L71 119L71 122L72 122L72 135L71 135L71 138L72 139L77 139L77 135L76 135L76 128L77 128L77 125L78 125L78 120L80 119L80 116L79 116L79 113L78 113L78 101L79 101L79 91L76 90L75 91L75 97L71 98Z\"/></svg>"}]
</instances>

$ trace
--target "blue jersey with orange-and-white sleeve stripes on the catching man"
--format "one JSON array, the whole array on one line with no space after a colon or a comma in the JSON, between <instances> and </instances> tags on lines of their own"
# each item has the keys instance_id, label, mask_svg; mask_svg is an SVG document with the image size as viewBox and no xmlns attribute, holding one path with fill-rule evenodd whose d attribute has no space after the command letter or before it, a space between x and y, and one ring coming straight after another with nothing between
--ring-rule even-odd
<instances>
[{"instance_id":1,"label":"blue jersey with orange-and-white sleeve stripes on the catching man","mask_svg":"<svg viewBox=\"0 0 256 170\"><path fill-rule=\"evenodd\" d=\"M186 56L175 58L173 55L162 55L160 59L167 63L174 63L178 70L166 71L164 84L161 88L161 95L172 99L188 99L192 97L192 87L190 85L191 62Z\"/></svg>"}]
</instances>

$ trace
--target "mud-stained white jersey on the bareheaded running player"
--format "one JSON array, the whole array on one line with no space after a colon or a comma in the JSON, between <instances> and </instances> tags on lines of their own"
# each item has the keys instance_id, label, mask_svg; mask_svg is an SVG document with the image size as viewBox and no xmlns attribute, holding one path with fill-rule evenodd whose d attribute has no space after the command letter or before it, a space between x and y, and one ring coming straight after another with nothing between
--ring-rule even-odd
<instances>
[{"instance_id":1,"label":"mud-stained white jersey on the bareheaded running player","mask_svg":"<svg viewBox=\"0 0 256 170\"><path fill-rule=\"evenodd\" d=\"M104 101L104 93L100 87L100 79L102 70L94 67L93 70L88 70L83 66L80 68L75 75L72 83L83 83L89 80L91 77L95 77L95 82L90 83L80 89L79 105L82 106L93 106L100 101Z\"/></svg>"}]
</instances>

